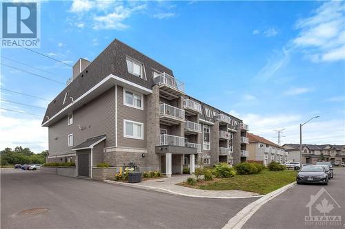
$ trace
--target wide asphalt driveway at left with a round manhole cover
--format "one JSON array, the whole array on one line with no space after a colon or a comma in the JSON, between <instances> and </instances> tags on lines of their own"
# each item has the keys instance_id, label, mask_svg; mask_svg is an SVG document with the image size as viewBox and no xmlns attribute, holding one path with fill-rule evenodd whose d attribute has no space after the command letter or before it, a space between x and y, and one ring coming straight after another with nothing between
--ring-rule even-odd
<instances>
[{"instance_id":1,"label":"wide asphalt driveway at left with a round manhole cover","mask_svg":"<svg viewBox=\"0 0 345 229\"><path fill-rule=\"evenodd\" d=\"M39 171L1 170L1 228L222 228L256 199L181 197ZM20 213L32 208L48 210Z\"/></svg>"}]
</instances>

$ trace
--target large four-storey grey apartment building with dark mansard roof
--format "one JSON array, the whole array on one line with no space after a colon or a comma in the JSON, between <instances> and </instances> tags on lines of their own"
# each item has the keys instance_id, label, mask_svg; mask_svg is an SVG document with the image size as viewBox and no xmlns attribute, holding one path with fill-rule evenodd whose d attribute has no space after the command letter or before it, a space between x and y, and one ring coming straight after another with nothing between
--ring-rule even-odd
<instances>
[{"instance_id":1,"label":"large four-storey grey apartment building with dark mansard roof","mask_svg":"<svg viewBox=\"0 0 345 229\"><path fill-rule=\"evenodd\" d=\"M48 105L48 162L99 162L170 176L184 166L246 161L248 125L186 94L172 70L115 39L94 61L79 59Z\"/></svg>"}]
</instances>

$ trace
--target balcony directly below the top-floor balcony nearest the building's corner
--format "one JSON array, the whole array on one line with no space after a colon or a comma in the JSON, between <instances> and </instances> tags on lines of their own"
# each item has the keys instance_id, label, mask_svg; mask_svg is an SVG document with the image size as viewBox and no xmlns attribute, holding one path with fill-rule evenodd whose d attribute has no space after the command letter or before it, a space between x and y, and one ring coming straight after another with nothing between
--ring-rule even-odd
<instances>
[{"instance_id":1,"label":"balcony directly below the top-floor balcony nearest the building's corner","mask_svg":"<svg viewBox=\"0 0 345 229\"><path fill-rule=\"evenodd\" d=\"M172 126L184 121L184 110L166 103L159 105L159 117L161 124Z\"/></svg>"}]
</instances>

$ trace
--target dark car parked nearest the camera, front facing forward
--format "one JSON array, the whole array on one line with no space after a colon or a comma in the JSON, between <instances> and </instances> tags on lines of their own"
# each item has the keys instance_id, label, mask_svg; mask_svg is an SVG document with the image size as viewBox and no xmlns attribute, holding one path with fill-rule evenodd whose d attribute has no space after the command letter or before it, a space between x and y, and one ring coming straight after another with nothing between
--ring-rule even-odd
<instances>
[{"instance_id":1,"label":"dark car parked nearest the camera, front facing forward","mask_svg":"<svg viewBox=\"0 0 345 229\"><path fill-rule=\"evenodd\" d=\"M324 166L304 166L296 177L297 184L316 183L328 184L328 175Z\"/></svg>"}]
</instances>

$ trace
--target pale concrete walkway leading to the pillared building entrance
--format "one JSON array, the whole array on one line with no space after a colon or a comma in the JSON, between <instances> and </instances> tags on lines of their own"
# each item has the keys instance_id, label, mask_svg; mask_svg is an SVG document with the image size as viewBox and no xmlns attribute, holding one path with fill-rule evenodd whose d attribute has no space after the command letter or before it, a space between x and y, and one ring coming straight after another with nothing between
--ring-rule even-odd
<instances>
[{"instance_id":1,"label":"pale concrete walkway leading to the pillared building entrance","mask_svg":"<svg viewBox=\"0 0 345 229\"><path fill-rule=\"evenodd\" d=\"M176 185L186 181L190 175L172 175L172 177L164 177L161 179L150 179L141 183L130 184L124 182L114 182L106 180L107 183L120 184L124 186L132 186L135 188L143 188L146 190L155 190L162 193L170 193L174 195L183 195L187 197L199 198L216 198L216 199L237 199L249 197L261 197L257 193L250 193L243 190L201 190L197 188L187 188Z\"/></svg>"}]
</instances>

